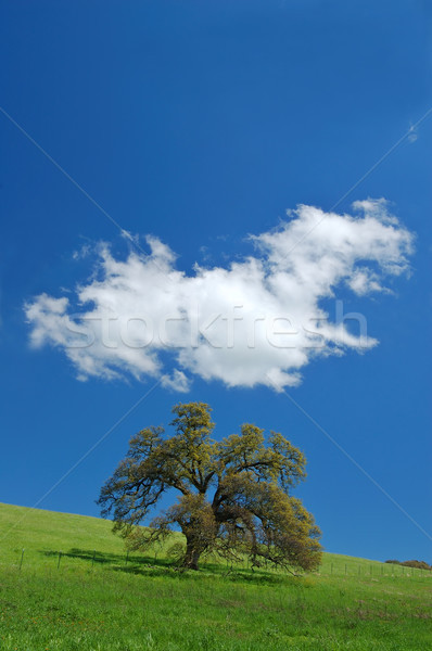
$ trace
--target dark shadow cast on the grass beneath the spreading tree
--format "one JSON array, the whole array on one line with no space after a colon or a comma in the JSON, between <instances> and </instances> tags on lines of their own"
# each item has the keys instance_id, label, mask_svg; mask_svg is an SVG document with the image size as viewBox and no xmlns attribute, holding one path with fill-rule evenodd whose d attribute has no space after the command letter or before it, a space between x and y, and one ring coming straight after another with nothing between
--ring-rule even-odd
<instances>
[{"instance_id":1,"label":"dark shadow cast on the grass beneath the spreading tree","mask_svg":"<svg viewBox=\"0 0 432 651\"><path fill-rule=\"evenodd\" d=\"M166 576L174 575L188 578L201 577L221 577L234 583L255 583L255 584L280 584L287 580L291 583L293 577L284 573L272 573L264 569L252 570L241 566L225 566L224 563L203 560L200 570L185 570L179 564L169 559L158 559L152 556L132 556L119 553L100 552L93 549L72 548L68 551L41 550L41 554L53 559L79 559L86 561L89 567L107 566L114 572L124 572L126 574L140 574L144 576Z\"/></svg>"}]
</instances>

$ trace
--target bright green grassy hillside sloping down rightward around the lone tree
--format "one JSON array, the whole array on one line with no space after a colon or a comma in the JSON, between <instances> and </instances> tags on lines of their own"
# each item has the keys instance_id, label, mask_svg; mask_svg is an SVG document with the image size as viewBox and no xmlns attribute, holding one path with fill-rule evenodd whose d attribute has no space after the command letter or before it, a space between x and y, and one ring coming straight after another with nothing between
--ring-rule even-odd
<instances>
[{"instance_id":1,"label":"bright green grassy hillside sloping down rightward around the lone tree","mask_svg":"<svg viewBox=\"0 0 432 651\"><path fill-rule=\"evenodd\" d=\"M302 577L215 562L180 573L156 551L126 563L109 522L0 505L0 650L431 646L430 573L336 554Z\"/></svg>"}]
</instances>

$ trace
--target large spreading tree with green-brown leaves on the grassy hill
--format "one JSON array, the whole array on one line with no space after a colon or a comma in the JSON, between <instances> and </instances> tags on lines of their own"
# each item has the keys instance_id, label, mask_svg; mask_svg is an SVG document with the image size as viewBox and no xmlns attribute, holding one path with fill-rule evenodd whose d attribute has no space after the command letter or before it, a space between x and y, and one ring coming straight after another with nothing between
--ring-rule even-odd
<instances>
[{"instance_id":1,"label":"large spreading tree with green-brown leaves on the grassy hill","mask_svg":"<svg viewBox=\"0 0 432 651\"><path fill-rule=\"evenodd\" d=\"M304 455L284 436L254 424L221 441L212 438L214 422L204 403L173 408L171 436L147 427L130 439L129 450L101 489L102 515L114 520L129 549L144 549L180 528L186 567L198 569L203 554L227 559L246 556L312 570L321 558L320 531L292 488L305 478ZM169 489L177 501L150 523L138 526ZM178 545L177 545L178 550Z\"/></svg>"}]
</instances>

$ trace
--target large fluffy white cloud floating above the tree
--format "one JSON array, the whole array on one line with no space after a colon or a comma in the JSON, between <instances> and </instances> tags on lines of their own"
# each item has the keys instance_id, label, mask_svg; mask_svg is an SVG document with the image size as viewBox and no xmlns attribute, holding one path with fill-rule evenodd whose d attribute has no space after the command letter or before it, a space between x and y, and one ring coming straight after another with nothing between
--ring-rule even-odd
<instances>
[{"instance_id":1,"label":"large fluffy white cloud floating above the tree","mask_svg":"<svg viewBox=\"0 0 432 651\"><path fill-rule=\"evenodd\" d=\"M279 228L252 237L255 255L227 268L176 268L174 252L148 237L150 255L116 259L99 247L98 273L67 297L41 294L25 306L34 346L64 350L78 378L158 378L186 392L191 378L276 388L301 380L317 356L365 350L330 320L322 299L344 284L358 295L389 291L385 277L408 269L414 237L384 200L353 204L353 215L302 205Z\"/></svg>"}]
</instances>

